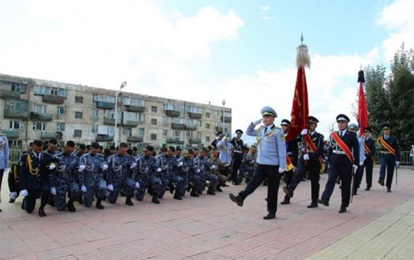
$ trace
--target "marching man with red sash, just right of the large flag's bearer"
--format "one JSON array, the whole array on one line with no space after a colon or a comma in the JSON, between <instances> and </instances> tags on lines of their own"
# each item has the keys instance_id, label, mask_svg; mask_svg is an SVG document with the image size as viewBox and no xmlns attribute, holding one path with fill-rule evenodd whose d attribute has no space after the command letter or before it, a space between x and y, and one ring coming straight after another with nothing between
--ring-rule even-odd
<instances>
[{"instance_id":1,"label":"marching man with red sash, just right of the large flag's bearer","mask_svg":"<svg viewBox=\"0 0 414 260\"><path fill-rule=\"evenodd\" d=\"M359 144L356 133L347 130L348 116L340 114L336 117L336 122L338 122L339 130L330 135L328 182L326 182L325 190L321 199L318 199L318 203L329 206L329 199L335 188L335 181L340 176L342 181L342 204L339 213L344 213L350 202L352 173L358 170Z\"/></svg>"}]
</instances>

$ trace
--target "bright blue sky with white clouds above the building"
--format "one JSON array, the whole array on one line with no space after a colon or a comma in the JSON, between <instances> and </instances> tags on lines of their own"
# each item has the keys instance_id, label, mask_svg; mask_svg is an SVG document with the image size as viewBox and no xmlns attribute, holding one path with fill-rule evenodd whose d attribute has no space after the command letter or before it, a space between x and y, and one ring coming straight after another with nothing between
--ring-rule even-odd
<instances>
[{"instance_id":1,"label":"bright blue sky with white clouds above the building","mask_svg":"<svg viewBox=\"0 0 414 260\"><path fill-rule=\"evenodd\" d=\"M291 118L296 47L308 46L309 114L328 137L353 117L360 66L414 48L411 0L0 0L0 73ZM234 133L233 133L234 135ZM253 139L243 139L249 142Z\"/></svg>"}]
</instances>

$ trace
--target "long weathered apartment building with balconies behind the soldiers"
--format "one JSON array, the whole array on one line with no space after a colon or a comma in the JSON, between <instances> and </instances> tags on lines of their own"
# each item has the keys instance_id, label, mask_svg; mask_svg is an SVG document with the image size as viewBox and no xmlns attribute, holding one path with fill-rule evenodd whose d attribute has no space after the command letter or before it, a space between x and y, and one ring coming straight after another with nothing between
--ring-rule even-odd
<instances>
[{"instance_id":1,"label":"long weathered apartment building with balconies behind the soldiers","mask_svg":"<svg viewBox=\"0 0 414 260\"><path fill-rule=\"evenodd\" d=\"M104 147L210 145L231 132L231 108L0 74L1 132L11 146L57 138ZM117 100L116 100L117 97ZM116 113L117 111L117 113ZM117 129L117 130L116 130Z\"/></svg>"}]
</instances>

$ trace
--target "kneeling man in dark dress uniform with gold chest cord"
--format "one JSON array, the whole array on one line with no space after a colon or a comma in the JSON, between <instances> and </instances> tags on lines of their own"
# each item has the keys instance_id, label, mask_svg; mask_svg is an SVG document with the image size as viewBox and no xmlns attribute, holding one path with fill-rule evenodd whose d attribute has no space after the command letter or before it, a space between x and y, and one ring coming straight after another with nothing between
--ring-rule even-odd
<instances>
[{"instance_id":1,"label":"kneeling man in dark dress uniform with gold chest cord","mask_svg":"<svg viewBox=\"0 0 414 260\"><path fill-rule=\"evenodd\" d=\"M43 142L34 140L33 151L23 155L19 165L20 194L24 196L22 209L31 213L36 206L36 199L41 193L41 204L39 207L39 217L45 217L44 207L46 206L51 185L49 180L49 170L54 170L56 165L45 165L44 162L51 158L46 152L41 152Z\"/></svg>"}]
</instances>

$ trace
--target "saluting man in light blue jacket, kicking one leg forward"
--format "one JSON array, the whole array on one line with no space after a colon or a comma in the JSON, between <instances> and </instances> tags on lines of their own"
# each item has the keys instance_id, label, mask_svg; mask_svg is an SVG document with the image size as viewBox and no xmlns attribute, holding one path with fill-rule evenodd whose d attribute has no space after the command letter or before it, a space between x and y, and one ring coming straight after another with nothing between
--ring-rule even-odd
<instances>
[{"instance_id":1,"label":"saluting man in light blue jacket, kicking one leg forward","mask_svg":"<svg viewBox=\"0 0 414 260\"><path fill-rule=\"evenodd\" d=\"M249 194L260 186L263 180L268 178L268 214L263 219L276 218L278 208L278 189L281 174L286 170L286 144L285 135L281 128L277 128L273 122L277 117L276 111L270 107L261 110L263 118L248 125L246 134L256 136L258 141L257 167L246 188L238 193L238 196L229 194L231 201L243 206L243 201ZM255 130L256 125L263 120L263 126Z\"/></svg>"}]
</instances>

